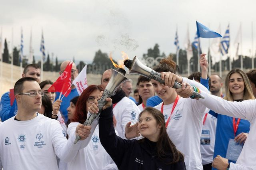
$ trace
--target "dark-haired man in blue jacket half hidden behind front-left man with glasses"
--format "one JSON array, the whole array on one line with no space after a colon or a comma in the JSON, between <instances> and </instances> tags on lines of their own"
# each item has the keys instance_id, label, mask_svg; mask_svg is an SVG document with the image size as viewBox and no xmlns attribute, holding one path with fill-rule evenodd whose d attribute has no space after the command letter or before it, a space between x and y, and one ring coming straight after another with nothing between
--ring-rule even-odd
<instances>
[{"instance_id":1,"label":"dark-haired man in blue jacket half hidden behind front-left man with glasses","mask_svg":"<svg viewBox=\"0 0 256 170\"><path fill-rule=\"evenodd\" d=\"M36 79L38 83L41 81L41 69L39 65L37 64L29 64L24 68L24 71L22 73L22 77L32 77ZM14 100L13 103L11 103L10 99L10 92L4 93L1 97L0 102L0 117L2 121L6 121L7 119L13 117L17 113L17 103L16 100Z\"/></svg>"}]
</instances>

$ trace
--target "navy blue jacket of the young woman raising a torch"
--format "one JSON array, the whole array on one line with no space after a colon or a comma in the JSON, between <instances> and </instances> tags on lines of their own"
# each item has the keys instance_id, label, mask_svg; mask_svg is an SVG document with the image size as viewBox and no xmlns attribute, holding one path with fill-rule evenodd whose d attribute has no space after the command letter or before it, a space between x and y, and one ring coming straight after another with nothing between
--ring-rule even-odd
<instances>
[{"instance_id":1,"label":"navy blue jacket of the young woman raising a torch","mask_svg":"<svg viewBox=\"0 0 256 170\"><path fill-rule=\"evenodd\" d=\"M100 142L120 170L185 170L184 161L165 164L156 156L156 142L147 138L125 140L116 135L112 107L103 110L99 120ZM166 161L172 160L172 153Z\"/></svg>"}]
</instances>

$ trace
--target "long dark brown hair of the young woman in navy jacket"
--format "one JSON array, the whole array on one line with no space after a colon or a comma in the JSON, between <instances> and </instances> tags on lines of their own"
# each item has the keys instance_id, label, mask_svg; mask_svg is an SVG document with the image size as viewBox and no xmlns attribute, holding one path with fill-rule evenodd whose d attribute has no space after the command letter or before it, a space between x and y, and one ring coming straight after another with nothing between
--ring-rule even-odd
<instances>
[{"instance_id":1,"label":"long dark brown hair of the young woman in navy jacket","mask_svg":"<svg viewBox=\"0 0 256 170\"><path fill-rule=\"evenodd\" d=\"M160 158L160 160L166 161L167 152L170 151L172 152L173 159L167 164L174 164L176 162L183 161L184 156L180 151L176 149L176 146L174 145L174 143L172 143L172 140L169 138L166 132L164 115L159 110L153 107L146 107L146 109L140 113L138 119L140 119L140 116L145 112L150 113L154 117L154 119L156 119L158 125L162 126L160 134L158 136L158 141L156 142L156 151L158 158ZM143 140L144 139L141 139L139 141L141 142Z\"/></svg>"}]
</instances>

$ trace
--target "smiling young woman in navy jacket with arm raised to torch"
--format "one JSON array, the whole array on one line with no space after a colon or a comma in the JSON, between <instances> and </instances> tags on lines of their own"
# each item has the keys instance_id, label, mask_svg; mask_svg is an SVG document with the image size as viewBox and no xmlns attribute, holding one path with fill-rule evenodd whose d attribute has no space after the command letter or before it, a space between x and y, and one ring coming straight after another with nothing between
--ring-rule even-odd
<instances>
[{"instance_id":1,"label":"smiling young woman in navy jacket with arm raised to torch","mask_svg":"<svg viewBox=\"0 0 256 170\"><path fill-rule=\"evenodd\" d=\"M105 107L111 105L111 99ZM91 113L97 113L97 101L89 107ZM126 140L114 132L112 107L100 114L100 142L120 170L184 170L184 156L172 143L165 128L164 116L152 107L139 115L138 130L144 138Z\"/></svg>"}]
</instances>

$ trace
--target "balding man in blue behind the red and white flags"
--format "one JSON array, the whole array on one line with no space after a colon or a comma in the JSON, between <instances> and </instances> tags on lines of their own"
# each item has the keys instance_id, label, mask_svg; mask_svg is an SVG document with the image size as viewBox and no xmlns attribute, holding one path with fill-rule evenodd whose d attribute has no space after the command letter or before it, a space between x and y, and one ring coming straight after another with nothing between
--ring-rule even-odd
<instances>
[{"instance_id":1,"label":"balding man in blue behind the red and white flags","mask_svg":"<svg viewBox=\"0 0 256 170\"><path fill-rule=\"evenodd\" d=\"M70 61L66 60L63 61L60 65L60 75L62 72L66 69L68 63ZM78 76L78 70L76 69L76 64L73 63L72 69L71 69L71 83L73 83L74 79ZM63 95L63 94L62 94ZM73 99L74 97L78 96L79 94L76 91L76 86L72 85L71 86L71 92L69 93L68 97L63 97L62 103L60 105L60 113L62 114L62 117L64 118L65 123L68 121L68 107L70 105L70 100ZM57 100L60 96L59 92L56 92L56 97L55 99Z\"/></svg>"}]
</instances>

